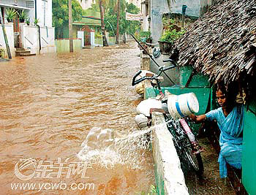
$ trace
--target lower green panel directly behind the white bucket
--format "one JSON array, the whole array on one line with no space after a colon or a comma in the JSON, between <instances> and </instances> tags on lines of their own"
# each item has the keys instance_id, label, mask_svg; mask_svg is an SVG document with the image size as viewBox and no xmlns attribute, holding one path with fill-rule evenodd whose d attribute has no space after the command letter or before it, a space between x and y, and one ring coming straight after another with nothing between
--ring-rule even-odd
<instances>
[{"instance_id":1,"label":"lower green panel directly behind the white bucket","mask_svg":"<svg viewBox=\"0 0 256 195\"><path fill-rule=\"evenodd\" d=\"M198 102L199 102L199 112L197 115L202 115L206 112L206 108L208 105L208 99L210 96L210 91L211 88L168 88L168 87L163 87L162 91L169 91L170 93L180 95L183 93L190 93L193 92L197 96ZM152 98L157 96L159 91L154 88L146 88L146 99Z\"/></svg>"}]
</instances>

